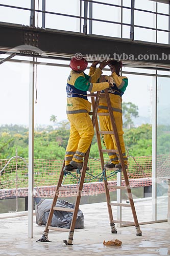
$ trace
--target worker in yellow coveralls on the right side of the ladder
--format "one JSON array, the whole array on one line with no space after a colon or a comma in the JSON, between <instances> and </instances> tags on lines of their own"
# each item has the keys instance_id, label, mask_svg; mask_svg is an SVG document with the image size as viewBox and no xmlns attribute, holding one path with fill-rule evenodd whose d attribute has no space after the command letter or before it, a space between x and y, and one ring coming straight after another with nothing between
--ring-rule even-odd
<instances>
[{"instance_id":1,"label":"worker in yellow coveralls on the right side of the ladder","mask_svg":"<svg viewBox=\"0 0 170 256\"><path fill-rule=\"evenodd\" d=\"M98 62L93 61L92 66L90 67L89 75L92 76L96 70L96 64ZM127 168L127 156L125 150L125 143L123 138L123 120L122 120L122 95L124 94L128 86L128 78L126 76L120 76L120 68L122 68L122 61L110 60L108 66L111 70L111 77L113 78L113 86L109 88L109 96L113 109L113 115L115 119L115 124L117 128L117 133L120 141L120 146L123 153L123 159L125 167ZM110 76L101 76L100 81L107 81ZM106 97L101 97L99 102L98 112L106 113L108 112ZM101 131L113 131L111 124L110 116L99 116ZM104 134L103 135L104 144L107 150L117 150L117 144L113 134ZM120 163L120 158L118 153L108 153L110 163L105 164L106 168L122 168Z\"/></svg>"}]
</instances>

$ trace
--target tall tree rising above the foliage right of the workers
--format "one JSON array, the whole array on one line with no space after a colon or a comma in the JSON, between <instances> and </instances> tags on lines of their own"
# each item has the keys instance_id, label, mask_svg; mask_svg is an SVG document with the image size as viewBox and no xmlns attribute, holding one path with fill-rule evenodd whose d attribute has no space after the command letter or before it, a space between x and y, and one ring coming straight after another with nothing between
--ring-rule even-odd
<instances>
[{"instance_id":1,"label":"tall tree rising above the foliage right of the workers","mask_svg":"<svg viewBox=\"0 0 170 256\"><path fill-rule=\"evenodd\" d=\"M132 117L138 117L138 106L132 102L123 102L122 104L124 127L130 129L134 126Z\"/></svg>"}]
</instances>

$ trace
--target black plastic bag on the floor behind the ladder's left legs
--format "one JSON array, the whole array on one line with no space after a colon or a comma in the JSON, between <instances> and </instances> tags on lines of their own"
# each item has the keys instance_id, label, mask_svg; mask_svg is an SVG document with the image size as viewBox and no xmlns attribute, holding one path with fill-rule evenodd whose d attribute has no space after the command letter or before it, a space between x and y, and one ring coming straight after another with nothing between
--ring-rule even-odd
<instances>
[{"instance_id":1,"label":"black plastic bag on the floor behind the ladder's left legs","mask_svg":"<svg viewBox=\"0 0 170 256\"><path fill-rule=\"evenodd\" d=\"M36 224L46 225L48 215L52 206L53 199L41 199L35 206ZM57 207L75 208L75 204L68 203L64 200L57 200ZM70 228L73 212L54 210L51 226ZM83 212L78 209L78 215L76 220L75 229L84 228L84 216Z\"/></svg>"}]
</instances>

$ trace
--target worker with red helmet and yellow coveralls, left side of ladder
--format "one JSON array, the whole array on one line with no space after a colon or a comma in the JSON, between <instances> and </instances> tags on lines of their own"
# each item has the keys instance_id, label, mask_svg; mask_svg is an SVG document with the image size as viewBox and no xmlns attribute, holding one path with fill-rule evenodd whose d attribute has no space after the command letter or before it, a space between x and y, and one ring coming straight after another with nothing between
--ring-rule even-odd
<instances>
[{"instance_id":1,"label":"worker with red helmet and yellow coveralls, left side of ladder","mask_svg":"<svg viewBox=\"0 0 170 256\"><path fill-rule=\"evenodd\" d=\"M87 60L76 59L70 61L71 72L67 79L67 118L70 122L70 135L65 153L65 171L83 167L83 159L87 152L94 129L89 116L91 103L87 100L87 91L93 93L112 86L111 80L94 83L101 74L102 69L107 65L106 61L101 62L99 68L95 68L92 76L84 73L87 68Z\"/></svg>"}]
</instances>

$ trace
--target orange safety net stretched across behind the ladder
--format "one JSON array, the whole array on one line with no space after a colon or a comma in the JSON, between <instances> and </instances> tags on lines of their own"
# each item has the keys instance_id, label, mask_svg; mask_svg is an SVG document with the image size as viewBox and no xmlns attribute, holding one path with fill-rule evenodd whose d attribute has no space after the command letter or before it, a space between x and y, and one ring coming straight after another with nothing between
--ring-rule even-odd
<instances>
[{"instance_id":1,"label":"orange safety net stretched across behind the ladder","mask_svg":"<svg viewBox=\"0 0 170 256\"><path fill-rule=\"evenodd\" d=\"M166 179L170 176L170 155L157 156L157 177ZM28 159L20 158L0 160L0 199L11 197L28 196ZM109 159L105 159L105 162ZM53 197L59 179L63 160L34 160L34 189L35 197ZM90 170L86 173L82 195L94 195L105 192L104 183L100 182L102 176L101 163L99 159L89 158ZM107 176L112 171L107 170ZM129 157L127 174L131 187L144 187L152 185L152 156ZM91 176L92 175L92 176ZM98 178L95 178L98 176ZM63 182L64 186L78 188L80 175L74 173L74 177L67 175ZM116 175L108 178L108 183L116 185ZM122 175L123 185L125 184ZM110 191L113 191L112 189ZM73 195L74 194L74 195ZM60 196L75 196L76 192L61 191Z\"/></svg>"}]
</instances>

